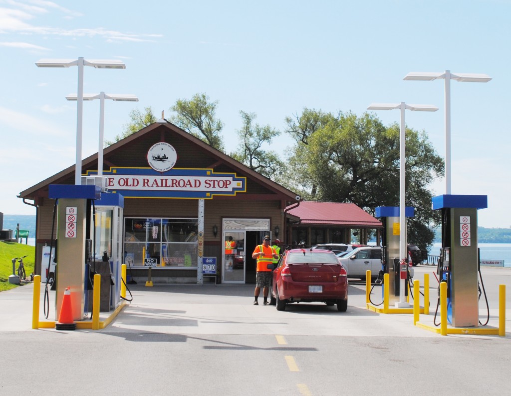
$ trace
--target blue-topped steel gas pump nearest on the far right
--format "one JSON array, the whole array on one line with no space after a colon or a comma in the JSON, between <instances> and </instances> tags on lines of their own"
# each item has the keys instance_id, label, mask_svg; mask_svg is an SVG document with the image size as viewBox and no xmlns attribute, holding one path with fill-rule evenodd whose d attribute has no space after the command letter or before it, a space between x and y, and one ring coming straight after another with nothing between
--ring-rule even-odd
<instances>
[{"instance_id":1,"label":"blue-topped steel gas pump nearest on the far right","mask_svg":"<svg viewBox=\"0 0 511 396\"><path fill-rule=\"evenodd\" d=\"M486 195L439 195L433 210L442 210L442 248L437 274L447 282L447 319L454 327L479 324L479 257L477 210L487 208Z\"/></svg>"}]
</instances>

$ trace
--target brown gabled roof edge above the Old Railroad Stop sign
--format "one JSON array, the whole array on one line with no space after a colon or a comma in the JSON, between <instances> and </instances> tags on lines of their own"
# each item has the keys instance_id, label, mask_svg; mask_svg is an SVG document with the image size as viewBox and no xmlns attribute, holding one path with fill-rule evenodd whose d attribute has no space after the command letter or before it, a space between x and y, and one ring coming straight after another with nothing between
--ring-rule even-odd
<instances>
[{"instance_id":1,"label":"brown gabled roof edge above the Old Railroad Stop sign","mask_svg":"<svg viewBox=\"0 0 511 396\"><path fill-rule=\"evenodd\" d=\"M145 128L135 132L134 134L116 142L103 150L104 163L108 163L109 157L115 155L116 152L120 152L121 150L128 149L137 145L139 141L143 139L147 139L147 137L154 137L159 141L164 141L167 134L175 134L180 138L188 141L190 147L194 147L195 155L198 156L207 156L211 158L211 163L208 163L208 166L215 168L219 165L225 165L229 168L235 170L236 172L240 172L247 178L253 180L255 183L258 183L264 186L266 189L271 191L273 194L276 194L275 199L284 200L286 202L295 203L296 202L296 194L287 188L281 186L273 182L271 179L263 176L262 174L250 169L248 166L243 165L241 162L236 161L235 159L229 157L225 153L216 148L211 147L207 143L202 140L196 138L195 136L189 134L178 126L166 122L166 123L153 123L151 125L146 126ZM91 167L96 167L98 164L98 153L91 155L84 160L82 160L82 172L84 173L86 169L90 169ZM115 164L117 165L117 164ZM125 165L126 166L126 165ZM147 166L147 163L143 166ZM75 165L69 166L68 168L60 171L59 173L54 174L53 176L45 179L36 185L21 191L19 197L34 199L34 196L38 191L47 190L48 185L50 184L66 184L66 183L74 183L74 172ZM273 195L271 194L271 195ZM248 194L245 195L248 198Z\"/></svg>"}]
</instances>

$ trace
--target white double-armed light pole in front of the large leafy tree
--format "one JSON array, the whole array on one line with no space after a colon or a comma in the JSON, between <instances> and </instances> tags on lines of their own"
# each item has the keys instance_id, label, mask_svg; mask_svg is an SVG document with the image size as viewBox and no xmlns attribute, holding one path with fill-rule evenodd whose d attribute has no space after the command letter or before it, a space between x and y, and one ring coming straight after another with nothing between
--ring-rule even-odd
<instances>
[{"instance_id":1,"label":"white double-armed light pole in front of the large leafy tree","mask_svg":"<svg viewBox=\"0 0 511 396\"><path fill-rule=\"evenodd\" d=\"M405 170L406 170L406 127L405 127L405 109L418 112L436 112L438 107L431 104L406 104L401 103L371 103L368 110L401 110L401 126L399 133L399 255L400 259L408 262L406 252L406 216L405 216ZM399 288L398 308L408 306L405 300L405 279L401 279Z\"/></svg>"}]
</instances>

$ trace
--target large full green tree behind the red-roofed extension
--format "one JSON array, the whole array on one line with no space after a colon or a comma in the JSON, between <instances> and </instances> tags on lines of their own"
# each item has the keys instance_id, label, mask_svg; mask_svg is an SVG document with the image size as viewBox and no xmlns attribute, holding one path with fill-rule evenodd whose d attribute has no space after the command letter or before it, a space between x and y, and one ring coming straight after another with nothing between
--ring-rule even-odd
<instances>
[{"instance_id":1,"label":"large full green tree behind the red-roofed extension","mask_svg":"<svg viewBox=\"0 0 511 396\"><path fill-rule=\"evenodd\" d=\"M352 202L373 215L378 206L399 206L399 126L385 127L368 113L327 119L307 136L308 144L295 146L290 158L303 164L309 186L317 187L313 198ZM424 131L412 129L406 131L406 156L406 205L416 208L409 240L425 249L439 221L427 186L443 174L443 160Z\"/></svg>"}]
</instances>

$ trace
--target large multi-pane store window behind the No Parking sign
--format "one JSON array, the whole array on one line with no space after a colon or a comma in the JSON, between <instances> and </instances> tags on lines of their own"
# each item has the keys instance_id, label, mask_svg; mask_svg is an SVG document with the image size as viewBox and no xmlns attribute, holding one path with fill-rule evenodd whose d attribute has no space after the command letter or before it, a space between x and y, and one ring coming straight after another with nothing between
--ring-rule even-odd
<instances>
[{"instance_id":1,"label":"large multi-pane store window behind the No Parking sign","mask_svg":"<svg viewBox=\"0 0 511 396\"><path fill-rule=\"evenodd\" d=\"M125 218L124 257L134 267L197 268L196 218Z\"/></svg>"}]
</instances>

